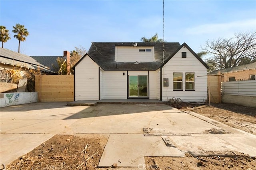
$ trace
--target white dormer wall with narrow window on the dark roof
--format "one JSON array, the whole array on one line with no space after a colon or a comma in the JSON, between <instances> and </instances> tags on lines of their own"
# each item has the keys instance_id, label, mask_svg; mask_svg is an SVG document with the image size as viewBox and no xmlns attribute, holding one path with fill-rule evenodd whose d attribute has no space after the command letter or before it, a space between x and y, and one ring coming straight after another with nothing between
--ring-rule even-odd
<instances>
[{"instance_id":1,"label":"white dormer wall with narrow window on the dark roof","mask_svg":"<svg viewBox=\"0 0 256 170\"><path fill-rule=\"evenodd\" d=\"M139 49L151 49L151 52L139 52ZM116 47L117 62L153 62L154 47Z\"/></svg>"}]
</instances>

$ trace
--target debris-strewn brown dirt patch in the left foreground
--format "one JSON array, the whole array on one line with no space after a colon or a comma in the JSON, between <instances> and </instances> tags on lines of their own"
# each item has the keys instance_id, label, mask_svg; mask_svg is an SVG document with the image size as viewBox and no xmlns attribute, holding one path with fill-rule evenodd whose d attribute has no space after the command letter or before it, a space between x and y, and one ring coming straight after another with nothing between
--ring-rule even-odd
<instances>
[{"instance_id":1,"label":"debris-strewn brown dirt patch in the left foreground","mask_svg":"<svg viewBox=\"0 0 256 170\"><path fill-rule=\"evenodd\" d=\"M95 170L107 138L55 135L7 166L7 170Z\"/></svg>"}]
</instances>

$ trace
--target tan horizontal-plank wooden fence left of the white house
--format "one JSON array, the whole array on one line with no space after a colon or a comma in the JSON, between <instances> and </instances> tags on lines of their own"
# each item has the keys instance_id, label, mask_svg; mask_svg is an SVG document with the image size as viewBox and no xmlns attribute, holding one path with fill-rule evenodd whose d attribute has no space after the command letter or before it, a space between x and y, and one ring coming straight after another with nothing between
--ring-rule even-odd
<instances>
[{"instance_id":1,"label":"tan horizontal-plank wooden fence left of the white house","mask_svg":"<svg viewBox=\"0 0 256 170\"><path fill-rule=\"evenodd\" d=\"M73 102L74 75L39 75L35 79L38 102Z\"/></svg>"}]
</instances>

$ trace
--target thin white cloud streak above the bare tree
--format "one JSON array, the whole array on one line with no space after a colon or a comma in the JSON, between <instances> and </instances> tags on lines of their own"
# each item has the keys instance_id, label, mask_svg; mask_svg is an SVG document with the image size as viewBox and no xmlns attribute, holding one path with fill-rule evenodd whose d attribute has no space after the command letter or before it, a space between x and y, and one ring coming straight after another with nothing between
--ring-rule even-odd
<instances>
[{"instance_id":1,"label":"thin white cloud streak above the bare tree","mask_svg":"<svg viewBox=\"0 0 256 170\"><path fill-rule=\"evenodd\" d=\"M256 30L256 19L232 21L228 23L211 23L185 29L187 35L219 34L234 35L235 32Z\"/></svg>"}]
</instances>

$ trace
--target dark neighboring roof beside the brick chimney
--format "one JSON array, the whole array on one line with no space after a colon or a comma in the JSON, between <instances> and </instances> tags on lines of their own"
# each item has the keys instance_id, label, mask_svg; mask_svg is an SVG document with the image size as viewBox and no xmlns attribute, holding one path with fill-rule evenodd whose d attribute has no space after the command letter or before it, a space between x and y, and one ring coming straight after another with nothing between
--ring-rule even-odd
<instances>
[{"instance_id":1,"label":"dark neighboring roof beside the brick chimney","mask_svg":"<svg viewBox=\"0 0 256 170\"><path fill-rule=\"evenodd\" d=\"M39 63L47 66L52 70L53 72L57 73L58 72L58 63L57 63L57 58L63 58L63 56L30 56Z\"/></svg>"}]
</instances>

